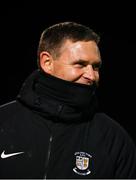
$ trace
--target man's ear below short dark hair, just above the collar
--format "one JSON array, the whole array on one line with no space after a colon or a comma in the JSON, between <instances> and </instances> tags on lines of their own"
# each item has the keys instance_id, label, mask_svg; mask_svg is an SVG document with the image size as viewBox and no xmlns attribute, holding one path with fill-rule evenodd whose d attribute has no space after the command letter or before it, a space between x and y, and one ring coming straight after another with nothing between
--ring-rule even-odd
<instances>
[{"instance_id":1,"label":"man's ear below short dark hair, just above the collar","mask_svg":"<svg viewBox=\"0 0 136 180\"><path fill-rule=\"evenodd\" d=\"M40 54L40 66L43 71L48 74L52 74L53 58L50 53L43 51Z\"/></svg>"}]
</instances>

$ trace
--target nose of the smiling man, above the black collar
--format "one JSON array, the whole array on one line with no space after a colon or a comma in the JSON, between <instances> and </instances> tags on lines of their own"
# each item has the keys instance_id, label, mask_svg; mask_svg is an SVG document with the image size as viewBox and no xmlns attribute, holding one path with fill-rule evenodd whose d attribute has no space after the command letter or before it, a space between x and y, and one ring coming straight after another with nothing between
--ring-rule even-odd
<instances>
[{"instance_id":1,"label":"nose of the smiling man, above the black collar","mask_svg":"<svg viewBox=\"0 0 136 180\"><path fill-rule=\"evenodd\" d=\"M90 81L95 81L95 71L92 65L89 64L85 67L84 78L87 78Z\"/></svg>"}]
</instances>

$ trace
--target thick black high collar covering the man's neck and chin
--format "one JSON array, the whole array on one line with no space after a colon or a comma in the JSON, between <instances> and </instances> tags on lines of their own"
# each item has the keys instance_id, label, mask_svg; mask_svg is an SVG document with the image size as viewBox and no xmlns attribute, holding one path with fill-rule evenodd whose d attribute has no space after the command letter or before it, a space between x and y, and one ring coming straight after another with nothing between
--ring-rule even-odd
<instances>
[{"instance_id":1,"label":"thick black high collar covering the man's neck and chin","mask_svg":"<svg viewBox=\"0 0 136 180\"><path fill-rule=\"evenodd\" d=\"M24 82L17 98L48 119L83 121L94 111L95 88L36 70Z\"/></svg>"}]
</instances>

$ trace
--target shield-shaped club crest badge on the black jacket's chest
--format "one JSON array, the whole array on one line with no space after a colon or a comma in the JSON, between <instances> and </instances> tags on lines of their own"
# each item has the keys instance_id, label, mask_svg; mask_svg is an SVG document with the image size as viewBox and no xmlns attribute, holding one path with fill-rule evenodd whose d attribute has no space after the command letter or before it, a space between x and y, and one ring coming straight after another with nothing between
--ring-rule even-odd
<instances>
[{"instance_id":1,"label":"shield-shaped club crest badge on the black jacket's chest","mask_svg":"<svg viewBox=\"0 0 136 180\"><path fill-rule=\"evenodd\" d=\"M90 160L92 156L86 152L76 152L75 154L76 167L73 168L73 171L79 175L88 175L90 171Z\"/></svg>"}]
</instances>

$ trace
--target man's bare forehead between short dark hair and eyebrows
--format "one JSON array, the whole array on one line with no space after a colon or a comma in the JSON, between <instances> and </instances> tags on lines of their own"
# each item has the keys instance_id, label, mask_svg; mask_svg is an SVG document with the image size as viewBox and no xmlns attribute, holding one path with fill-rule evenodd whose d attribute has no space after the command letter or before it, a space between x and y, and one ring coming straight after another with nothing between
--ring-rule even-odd
<instances>
[{"instance_id":1,"label":"man's bare forehead between short dark hair and eyebrows","mask_svg":"<svg viewBox=\"0 0 136 180\"><path fill-rule=\"evenodd\" d=\"M81 59L100 59L99 48L94 41L72 42L67 40L64 42L63 47L61 48L61 54L66 54Z\"/></svg>"}]
</instances>

